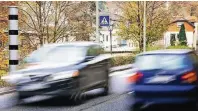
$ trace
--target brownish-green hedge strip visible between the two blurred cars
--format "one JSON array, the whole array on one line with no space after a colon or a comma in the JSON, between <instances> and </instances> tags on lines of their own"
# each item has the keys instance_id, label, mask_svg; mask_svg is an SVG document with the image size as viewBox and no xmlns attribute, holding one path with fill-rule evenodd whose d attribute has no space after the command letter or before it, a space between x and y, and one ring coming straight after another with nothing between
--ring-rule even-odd
<instances>
[{"instance_id":1,"label":"brownish-green hedge strip visible between the two blurred cars","mask_svg":"<svg viewBox=\"0 0 198 111\"><path fill-rule=\"evenodd\" d=\"M114 66L131 64L134 62L134 60L135 60L135 55L113 57L111 59L111 65L112 67L114 67Z\"/></svg>"}]
</instances>

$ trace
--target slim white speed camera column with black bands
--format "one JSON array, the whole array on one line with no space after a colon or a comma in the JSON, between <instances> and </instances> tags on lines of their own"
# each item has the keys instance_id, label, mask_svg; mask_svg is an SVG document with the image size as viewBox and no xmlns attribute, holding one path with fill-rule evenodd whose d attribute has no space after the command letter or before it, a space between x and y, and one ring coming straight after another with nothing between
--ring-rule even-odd
<instances>
[{"instance_id":1,"label":"slim white speed camera column with black bands","mask_svg":"<svg viewBox=\"0 0 198 111\"><path fill-rule=\"evenodd\" d=\"M10 72L16 70L18 65L18 8L10 6L9 8L9 51L10 51Z\"/></svg>"}]
</instances>

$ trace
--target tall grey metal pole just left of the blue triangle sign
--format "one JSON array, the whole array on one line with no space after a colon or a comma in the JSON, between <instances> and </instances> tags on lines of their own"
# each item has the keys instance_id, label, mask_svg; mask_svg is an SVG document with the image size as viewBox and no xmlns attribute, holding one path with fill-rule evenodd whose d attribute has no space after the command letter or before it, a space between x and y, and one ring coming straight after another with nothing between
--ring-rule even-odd
<instances>
[{"instance_id":1,"label":"tall grey metal pole just left of the blue triangle sign","mask_svg":"<svg viewBox=\"0 0 198 111\"><path fill-rule=\"evenodd\" d=\"M99 37L99 1L96 1L96 41L99 43L100 42L100 37Z\"/></svg>"}]
</instances>

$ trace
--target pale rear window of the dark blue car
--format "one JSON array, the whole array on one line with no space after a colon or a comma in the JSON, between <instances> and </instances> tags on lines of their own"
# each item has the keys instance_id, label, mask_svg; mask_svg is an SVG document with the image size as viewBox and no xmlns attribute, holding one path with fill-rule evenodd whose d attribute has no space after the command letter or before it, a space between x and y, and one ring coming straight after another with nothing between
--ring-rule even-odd
<instances>
[{"instance_id":1,"label":"pale rear window of the dark blue car","mask_svg":"<svg viewBox=\"0 0 198 111\"><path fill-rule=\"evenodd\" d=\"M136 58L135 65L141 70L178 69L191 64L186 55L143 55Z\"/></svg>"}]
</instances>

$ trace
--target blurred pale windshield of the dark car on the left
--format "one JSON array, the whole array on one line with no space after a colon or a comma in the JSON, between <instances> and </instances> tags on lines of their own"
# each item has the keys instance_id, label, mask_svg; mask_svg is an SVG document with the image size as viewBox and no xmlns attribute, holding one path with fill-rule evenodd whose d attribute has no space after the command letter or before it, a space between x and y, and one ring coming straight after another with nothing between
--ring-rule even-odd
<instances>
[{"instance_id":1,"label":"blurred pale windshield of the dark car on the left","mask_svg":"<svg viewBox=\"0 0 198 111\"><path fill-rule=\"evenodd\" d=\"M86 47L80 46L57 46L41 47L31 53L25 62L76 62L86 55Z\"/></svg>"}]
</instances>

